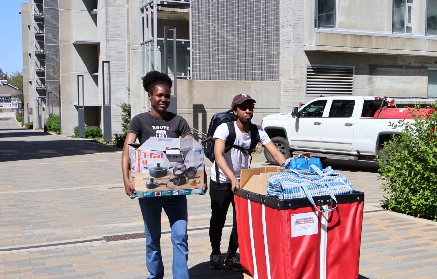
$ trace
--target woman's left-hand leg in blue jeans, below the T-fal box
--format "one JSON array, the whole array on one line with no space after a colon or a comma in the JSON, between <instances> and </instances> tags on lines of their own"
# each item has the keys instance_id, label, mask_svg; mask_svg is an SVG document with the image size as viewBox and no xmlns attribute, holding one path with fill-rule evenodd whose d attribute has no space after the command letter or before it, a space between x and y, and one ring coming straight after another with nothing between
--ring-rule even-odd
<instances>
[{"instance_id":1,"label":"woman's left-hand leg in blue jeans, below the T-fal box","mask_svg":"<svg viewBox=\"0 0 437 279\"><path fill-rule=\"evenodd\" d=\"M146 266L150 272L147 279L163 279L164 265L161 256L161 212L165 197L139 198L146 235Z\"/></svg>"}]
</instances>

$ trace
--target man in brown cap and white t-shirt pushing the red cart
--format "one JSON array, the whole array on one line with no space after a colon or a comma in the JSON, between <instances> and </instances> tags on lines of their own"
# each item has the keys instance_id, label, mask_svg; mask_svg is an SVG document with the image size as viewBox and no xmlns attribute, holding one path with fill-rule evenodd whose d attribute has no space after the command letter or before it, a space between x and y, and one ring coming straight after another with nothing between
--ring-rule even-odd
<instances>
[{"instance_id":1,"label":"man in brown cap and white t-shirt pushing the red cart","mask_svg":"<svg viewBox=\"0 0 437 279\"><path fill-rule=\"evenodd\" d=\"M212 210L209 226L212 252L209 267L212 269L223 266L234 271L242 270L239 260L235 257L238 249L238 235L233 195L235 188L240 187L241 169L250 167L248 164L249 156L251 156L253 148L259 142L270 152L279 165L283 165L286 160L267 133L261 127L251 123L254 103L255 100L247 94L235 96L231 108L236 116L236 121L220 124L213 134L215 161L211 167L209 184ZM255 136L254 133L257 135ZM229 137L234 137L233 143L229 142ZM233 227L229 238L228 252L222 263L220 242L230 203L233 207Z\"/></svg>"}]
</instances>

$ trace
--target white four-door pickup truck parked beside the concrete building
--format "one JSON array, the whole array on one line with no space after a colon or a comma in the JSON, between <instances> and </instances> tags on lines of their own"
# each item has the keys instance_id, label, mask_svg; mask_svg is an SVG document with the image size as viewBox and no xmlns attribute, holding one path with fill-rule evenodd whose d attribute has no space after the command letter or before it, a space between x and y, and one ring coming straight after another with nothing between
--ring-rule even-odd
<instances>
[{"instance_id":1,"label":"white four-door pickup truck parked beside the concrete building","mask_svg":"<svg viewBox=\"0 0 437 279\"><path fill-rule=\"evenodd\" d=\"M309 152L322 159L369 160L399 133L389 123L397 122L402 115L411 116L405 108L384 113L387 106L393 106L393 100L385 97L320 97L300 109L293 108L292 113L264 117L262 128L286 158L293 152ZM403 118L414 121L412 117ZM268 151L264 154L268 162L276 164Z\"/></svg>"}]
</instances>

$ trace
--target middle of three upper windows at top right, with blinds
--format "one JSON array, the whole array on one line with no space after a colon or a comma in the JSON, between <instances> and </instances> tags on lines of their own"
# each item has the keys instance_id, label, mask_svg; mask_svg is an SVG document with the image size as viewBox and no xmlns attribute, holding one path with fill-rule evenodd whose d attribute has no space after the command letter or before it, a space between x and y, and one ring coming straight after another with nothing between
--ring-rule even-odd
<instances>
[{"instance_id":1,"label":"middle of three upper windows at top right, with blinds","mask_svg":"<svg viewBox=\"0 0 437 279\"><path fill-rule=\"evenodd\" d=\"M413 32L412 10L413 0L393 0L393 33Z\"/></svg>"}]
</instances>

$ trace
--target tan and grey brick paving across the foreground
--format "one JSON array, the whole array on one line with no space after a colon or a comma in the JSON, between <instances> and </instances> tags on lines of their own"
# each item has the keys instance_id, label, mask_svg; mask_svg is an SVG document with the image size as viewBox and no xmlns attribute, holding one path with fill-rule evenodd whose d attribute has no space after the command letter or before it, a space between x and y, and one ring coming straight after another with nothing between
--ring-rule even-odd
<instances>
[{"instance_id":1,"label":"tan and grey brick paving across the foreground","mask_svg":"<svg viewBox=\"0 0 437 279\"><path fill-rule=\"evenodd\" d=\"M9 117L0 114L0 278L146 278L143 222L138 201L124 194L120 149L23 129ZM267 165L253 157L251 167ZM436 278L437 223L384 211L375 163L323 164L365 192L359 278ZM242 279L208 268L209 196L188 203L190 278ZM225 239L230 226L228 218ZM167 222L161 243L170 279Z\"/></svg>"}]
</instances>

